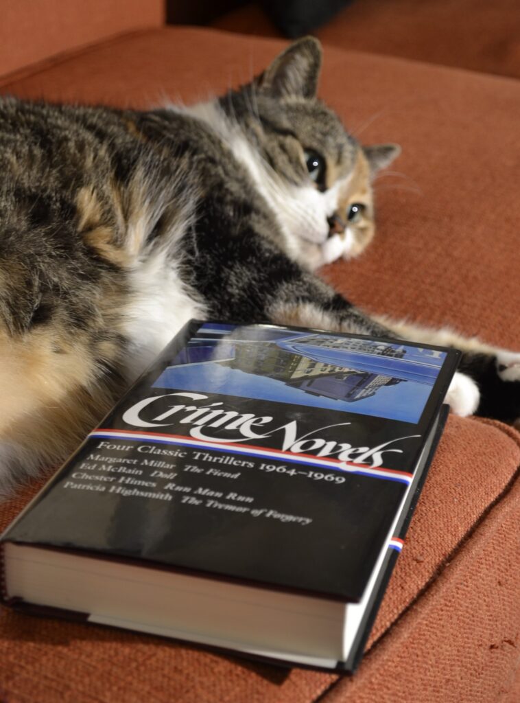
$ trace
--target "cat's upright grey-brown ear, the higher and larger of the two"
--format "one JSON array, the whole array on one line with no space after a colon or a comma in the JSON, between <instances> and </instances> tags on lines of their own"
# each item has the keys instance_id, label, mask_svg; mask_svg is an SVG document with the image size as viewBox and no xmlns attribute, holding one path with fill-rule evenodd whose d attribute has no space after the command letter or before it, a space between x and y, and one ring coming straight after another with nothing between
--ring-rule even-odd
<instances>
[{"instance_id":1,"label":"cat's upright grey-brown ear, the higher and larger of the two","mask_svg":"<svg viewBox=\"0 0 520 703\"><path fill-rule=\"evenodd\" d=\"M261 90L278 98L314 98L320 67L320 42L314 37L304 37L280 53L256 81Z\"/></svg>"}]
</instances>

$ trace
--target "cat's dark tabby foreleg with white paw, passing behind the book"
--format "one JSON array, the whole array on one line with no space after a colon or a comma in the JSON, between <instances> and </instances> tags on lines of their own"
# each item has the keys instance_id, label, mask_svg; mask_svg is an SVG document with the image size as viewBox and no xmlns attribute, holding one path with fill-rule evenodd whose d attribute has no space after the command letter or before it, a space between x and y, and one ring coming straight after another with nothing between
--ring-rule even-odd
<instances>
[{"instance_id":1,"label":"cat's dark tabby foreleg with white paw, passing behind the book","mask_svg":"<svg viewBox=\"0 0 520 703\"><path fill-rule=\"evenodd\" d=\"M197 240L204 238L204 233ZM189 251L190 243L187 244ZM210 317L237 322L272 322L280 325L330 330L372 337L398 337L391 328L353 306L323 280L301 269L261 238L244 235L218 244L194 247L190 284L201 292ZM206 252L211 251L211 256ZM216 256L221 265L215 266ZM226 295L222 295L222 291ZM447 398L460 415L471 414L479 391L462 374Z\"/></svg>"}]
</instances>

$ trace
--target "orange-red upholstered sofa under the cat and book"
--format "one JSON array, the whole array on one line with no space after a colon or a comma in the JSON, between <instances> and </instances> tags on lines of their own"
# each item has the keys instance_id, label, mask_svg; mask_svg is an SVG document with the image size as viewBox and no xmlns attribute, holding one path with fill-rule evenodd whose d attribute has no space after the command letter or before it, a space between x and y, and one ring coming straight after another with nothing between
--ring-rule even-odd
<instances>
[{"instance_id":1,"label":"orange-red upholstered sofa under the cat and book","mask_svg":"<svg viewBox=\"0 0 520 703\"><path fill-rule=\"evenodd\" d=\"M417 3L425 14L415 25L412 4L358 0L318 32L325 44L323 98L360 140L403 147L393 172L376 183L375 241L362 257L336 262L323 276L370 311L450 325L520 349L520 53L510 33L517 15L513 3L493 4L511 19L484 22L495 32L494 56L493 41L474 31L472 44L481 41L488 52L478 65L462 56L457 22L436 33L434 6L446 9L455 0ZM459 5L459 17L477 27L473 13L482 4ZM370 8L379 44L370 34ZM285 44L255 8L238 13L219 20L220 28L183 27L165 24L161 0L4 0L0 92L136 107L166 96L204 98L245 82ZM261 26L271 36L253 37ZM420 27L422 34L410 37ZM342 34L356 37L354 49ZM392 36L401 37L396 46ZM428 41L436 50L443 41L444 60L428 53ZM475 46L470 53L476 61ZM431 60L436 64L423 63ZM511 427L450 416L352 677L278 669L1 609L0 701L514 703L519 463L520 435ZM39 485L0 505L0 528Z\"/></svg>"}]
</instances>

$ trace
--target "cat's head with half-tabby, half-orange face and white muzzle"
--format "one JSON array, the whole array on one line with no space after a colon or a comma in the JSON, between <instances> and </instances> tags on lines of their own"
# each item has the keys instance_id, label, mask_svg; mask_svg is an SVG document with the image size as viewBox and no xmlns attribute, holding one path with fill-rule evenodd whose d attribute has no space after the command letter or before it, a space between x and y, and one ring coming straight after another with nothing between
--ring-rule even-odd
<instances>
[{"instance_id":1,"label":"cat's head with half-tabby, half-orange face and white muzzle","mask_svg":"<svg viewBox=\"0 0 520 703\"><path fill-rule=\"evenodd\" d=\"M346 132L316 97L320 65L320 44L306 37L220 100L240 128L233 153L278 217L290 253L311 268L368 245L372 180L400 151L394 144L362 147Z\"/></svg>"}]
</instances>

